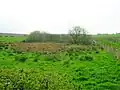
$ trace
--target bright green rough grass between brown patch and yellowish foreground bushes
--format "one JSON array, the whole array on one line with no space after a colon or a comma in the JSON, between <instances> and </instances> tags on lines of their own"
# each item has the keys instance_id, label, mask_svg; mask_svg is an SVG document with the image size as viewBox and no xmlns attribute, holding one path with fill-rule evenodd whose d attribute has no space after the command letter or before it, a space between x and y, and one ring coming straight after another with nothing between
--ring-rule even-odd
<instances>
[{"instance_id":1,"label":"bright green rough grass between brown patch and yellowish foreground bushes","mask_svg":"<svg viewBox=\"0 0 120 90\"><path fill-rule=\"evenodd\" d=\"M91 56L94 56L93 61L81 61L75 57L70 60L68 55L62 53L62 57L59 58L61 61L54 62L40 55L38 62L34 62L36 54L25 53L24 55L28 59L23 63L15 61L14 55L1 51L0 68L3 70L19 70L23 68L24 70L38 70L42 73L66 74L76 90L77 88L82 88L83 90L120 89L120 63L111 54L105 52L99 54L92 52Z\"/></svg>"}]
</instances>

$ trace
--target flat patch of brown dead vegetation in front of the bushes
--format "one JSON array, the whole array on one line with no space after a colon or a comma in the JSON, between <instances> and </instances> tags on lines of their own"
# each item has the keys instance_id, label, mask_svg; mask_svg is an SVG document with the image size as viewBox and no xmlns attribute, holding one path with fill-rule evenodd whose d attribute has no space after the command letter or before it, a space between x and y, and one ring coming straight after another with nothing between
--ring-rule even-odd
<instances>
[{"instance_id":1,"label":"flat patch of brown dead vegetation in front of the bushes","mask_svg":"<svg viewBox=\"0 0 120 90\"><path fill-rule=\"evenodd\" d=\"M10 48L20 51L60 51L64 49L64 44L59 43L12 43Z\"/></svg>"}]
</instances>

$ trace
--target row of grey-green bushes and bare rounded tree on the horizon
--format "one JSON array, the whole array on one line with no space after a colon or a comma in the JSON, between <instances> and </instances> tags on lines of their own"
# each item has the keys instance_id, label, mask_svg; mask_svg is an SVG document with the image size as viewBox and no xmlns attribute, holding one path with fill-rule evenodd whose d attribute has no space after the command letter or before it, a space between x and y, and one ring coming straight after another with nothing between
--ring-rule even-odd
<instances>
[{"instance_id":1,"label":"row of grey-green bushes and bare rounded tree on the horizon","mask_svg":"<svg viewBox=\"0 0 120 90\"><path fill-rule=\"evenodd\" d=\"M68 31L68 34L49 34L41 31L31 32L24 42L57 42L71 44L91 44L91 35L80 26L75 26Z\"/></svg>"}]
</instances>

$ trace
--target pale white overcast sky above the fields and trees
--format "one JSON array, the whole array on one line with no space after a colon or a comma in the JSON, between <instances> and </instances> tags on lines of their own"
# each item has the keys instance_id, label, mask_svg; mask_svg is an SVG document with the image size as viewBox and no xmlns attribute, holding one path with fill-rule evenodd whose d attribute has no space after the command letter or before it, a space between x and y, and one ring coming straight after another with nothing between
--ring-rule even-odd
<instances>
[{"instance_id":1,"label":"pale white overcast sky above the fields and trees","mask_svg":"<svg viewBox=\"0 0 120 90\"><path fill-rule=\"evenodd\" d=\"M120 32L120 0L0 0L0 32Z\"/></svg>"}]
</instances>

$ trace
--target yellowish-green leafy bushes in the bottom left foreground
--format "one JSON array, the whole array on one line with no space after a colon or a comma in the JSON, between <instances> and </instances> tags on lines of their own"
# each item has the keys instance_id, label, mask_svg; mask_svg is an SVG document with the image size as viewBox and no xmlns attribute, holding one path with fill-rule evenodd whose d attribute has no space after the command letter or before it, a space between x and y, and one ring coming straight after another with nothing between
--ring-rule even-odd
<instances>
[{"instance_id":1,"label":"yellowish-green leafy bushes in the bottom left foreground","mask_svg":"<svg viewBox=\"0 0 120 90\"><path fill-rule=\"evenodd\" d=\"M67 76L35 70L0 69L0 90L70 90Z\"/></svg>"}]
</instances>

